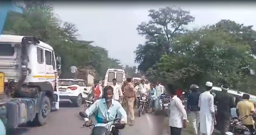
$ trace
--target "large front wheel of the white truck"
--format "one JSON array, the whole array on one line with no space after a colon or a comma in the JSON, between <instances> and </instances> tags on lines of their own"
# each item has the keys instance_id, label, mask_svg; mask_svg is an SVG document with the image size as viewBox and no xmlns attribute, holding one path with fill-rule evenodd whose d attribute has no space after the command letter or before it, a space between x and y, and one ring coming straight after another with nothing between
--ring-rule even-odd
<instances>
[{"instance_id":1,"label":"large front wheel of the white truck","mask_svg":"<svg viewBox=\"0 0 256 135\"><path fill-rule=\"evenodd\" d=\"M42 105L39 113L36 114L36 122L42 126L46 124L49 113L51 112L50 99L45 96L42 100Z\"/></svg>"}]
</instances>

